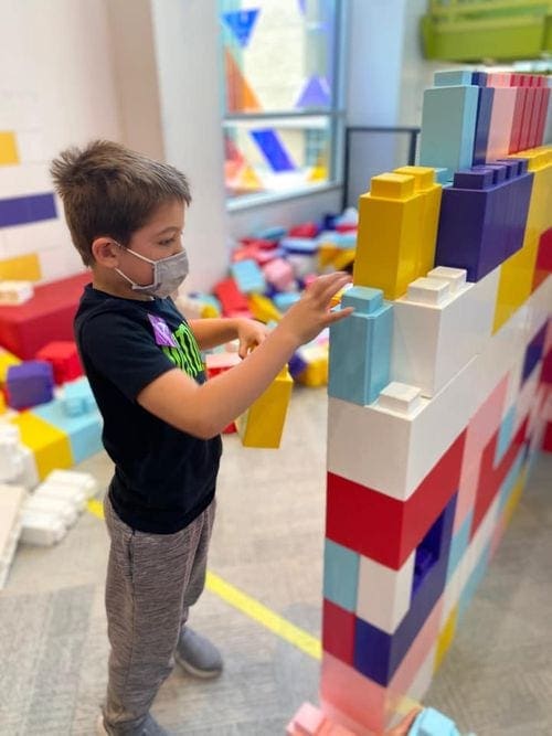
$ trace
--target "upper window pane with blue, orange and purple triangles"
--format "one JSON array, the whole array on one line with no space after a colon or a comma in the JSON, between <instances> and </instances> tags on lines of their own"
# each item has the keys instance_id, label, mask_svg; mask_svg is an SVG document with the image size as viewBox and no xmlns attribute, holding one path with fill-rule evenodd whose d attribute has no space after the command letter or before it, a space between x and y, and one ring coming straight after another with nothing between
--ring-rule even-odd
<instances>
[{"instance_id":1,"label":"upper window pane with blue, orange and purple triangles","mask_svg":"<svg viewBox=\"0 0 552 736\"><path fill-rule=\"evenodd\" d=\"M337 0L220 0L225 114L333 105Z\"/></svg>"}]
</instances>

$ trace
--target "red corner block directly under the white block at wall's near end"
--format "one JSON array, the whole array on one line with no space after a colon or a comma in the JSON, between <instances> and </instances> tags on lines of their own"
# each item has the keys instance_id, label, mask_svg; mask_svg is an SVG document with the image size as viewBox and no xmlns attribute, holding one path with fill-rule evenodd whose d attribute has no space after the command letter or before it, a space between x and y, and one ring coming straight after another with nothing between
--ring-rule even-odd
<instances>
[{"instance_id":1,"label":"red corner block directly under the white block at wall's near end","mask_svg":"<svg viewBox=\"0 0 552 736\"><path fill-rule=\"evenodd\" d=\"M458 490L466 430L406 501L328 473L326 535L399 569Z\"/></svg>"}]
</instances>

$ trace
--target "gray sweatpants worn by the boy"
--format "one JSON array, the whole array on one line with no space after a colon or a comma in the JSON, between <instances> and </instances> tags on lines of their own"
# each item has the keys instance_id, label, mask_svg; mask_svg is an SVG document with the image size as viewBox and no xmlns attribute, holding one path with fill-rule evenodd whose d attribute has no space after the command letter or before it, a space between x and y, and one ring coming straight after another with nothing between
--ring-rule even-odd
<instances>
[{"instance_id":1,"label":"gray sweatpants worn by the boy","mask_svg":"<svg viewBox=\"0 0 552 736\"><path fill-rule=\"evenodd\" d=\"M112 646L104 717L114 734L135 734L161 683L189 607L205 583L215 502L176 534L127 526L108 495L105 519L112 545L107 566L107 636Z\"/></svg>"}]
</instances>

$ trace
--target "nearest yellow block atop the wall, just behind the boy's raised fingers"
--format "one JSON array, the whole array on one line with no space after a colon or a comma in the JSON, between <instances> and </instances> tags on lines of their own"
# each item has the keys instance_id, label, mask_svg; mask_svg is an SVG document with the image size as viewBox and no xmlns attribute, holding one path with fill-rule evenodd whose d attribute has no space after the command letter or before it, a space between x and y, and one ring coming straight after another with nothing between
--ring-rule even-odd
<instances>
[{"instance_id":1,"label":"nearest yellow block atop the wall, just behind the boy's raised fingers","mask_svg":"<svg viewBox=\"0 0 552 736\"><path fill-rule=\"evenodd\" d=\"M385 173L371 185L359 199L353 282L397 299L420 275L424 199L414 192L414 177Z\"/></svg>"}]
</instances>

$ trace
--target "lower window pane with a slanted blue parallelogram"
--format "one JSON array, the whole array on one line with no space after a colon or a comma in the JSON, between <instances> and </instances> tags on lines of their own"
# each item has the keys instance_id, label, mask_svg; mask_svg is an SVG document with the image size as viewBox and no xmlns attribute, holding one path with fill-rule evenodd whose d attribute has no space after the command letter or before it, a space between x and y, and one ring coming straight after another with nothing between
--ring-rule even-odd
<instances>
[{"instance_id":1,"label":"lower window pane with a slanted blue parallelogram","mask_svg":"<svg viewBox=\"0 0 552 736\"><path fill-rule=\"evenodd\" d=\"M224 126L229 196L284 193L328 182L326 116L232 121Z\"/></svg>"}]
</instances>

